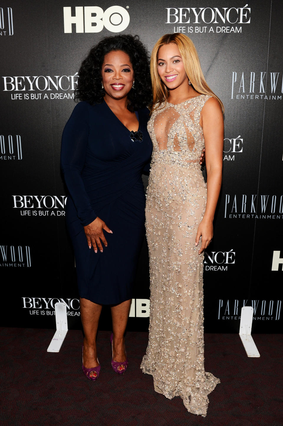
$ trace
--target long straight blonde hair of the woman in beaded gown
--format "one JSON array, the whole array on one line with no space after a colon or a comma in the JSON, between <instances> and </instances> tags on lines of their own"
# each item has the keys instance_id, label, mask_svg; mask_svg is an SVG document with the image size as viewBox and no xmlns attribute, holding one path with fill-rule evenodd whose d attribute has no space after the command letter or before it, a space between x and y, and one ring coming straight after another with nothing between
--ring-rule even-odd
<instances>
[{"instance_id":1,"label":"long straight blonde hair of the woman in beaded gown","mask_svg":"<svg viewBox=\"0 0 283 426\"><path fill-rule=\"evenodd\" d=\"M186 75L190 79L194 89L202 93L203 95L210 95L217 99L220 104L222 111L224 107L220 99L212 92L208 84L205 81L203 72L200 68L200 60L197 55L197 49L194 47L192 40L184 34L174 33L165 34L157 41L150 58L150 75L152 78L152 96L153 101L149 107L150 111L157 109L163 101L166 101L169 95L169 90L166 85L160 81L159 74L157 71L157 54L158 50L164 44L176 43L180 54L183 58Z\"/></svg>"}]
</instances>

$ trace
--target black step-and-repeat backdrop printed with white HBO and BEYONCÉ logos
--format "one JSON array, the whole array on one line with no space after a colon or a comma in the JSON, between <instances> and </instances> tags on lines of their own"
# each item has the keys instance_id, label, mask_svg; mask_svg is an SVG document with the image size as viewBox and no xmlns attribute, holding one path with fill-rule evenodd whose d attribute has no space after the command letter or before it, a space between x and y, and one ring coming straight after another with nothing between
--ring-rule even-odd
<instances>
[{"instance_id":1,"label":"black step-and-repeat backdrop printed with white HBO and BEYONC\u00c9 logos","mask_svg":"<svg viewBox=\"0 0 283 426\"><path fill-rule=\"evenodd\" d=\"M238 332L245 305L253 332L282 331L281 12L279 0L0 0L1 325L54 328L54 304L64 301L69 328L80 328L60 140L81 61L105 36L138 34L151 52L161 35L182 32L225 106L205 331ZM129 330L147 330L149 309L144 242ZM105 308L100 329L110 328Z\"/></svg>"}]
</instances>

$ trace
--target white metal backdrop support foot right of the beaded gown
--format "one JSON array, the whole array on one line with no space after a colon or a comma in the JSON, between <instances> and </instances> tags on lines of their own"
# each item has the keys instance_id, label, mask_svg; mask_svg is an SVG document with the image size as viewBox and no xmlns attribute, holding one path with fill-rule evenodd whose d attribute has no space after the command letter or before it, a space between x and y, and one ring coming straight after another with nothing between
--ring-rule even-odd
<instances>
[{"instance_id":1,"label":"white metal backdrop support foot right of the beaded gown","mask_svg":"<svg viewBox=\"0 0 283 426\"><path fill-rule=\"evenodd\" d=\"M248 357L258 358L260 353L251 336L252 334L252 316L254 309L252 306L243 306L241 311L239 335L246 350Z\"/></svg>"}]
</instances>

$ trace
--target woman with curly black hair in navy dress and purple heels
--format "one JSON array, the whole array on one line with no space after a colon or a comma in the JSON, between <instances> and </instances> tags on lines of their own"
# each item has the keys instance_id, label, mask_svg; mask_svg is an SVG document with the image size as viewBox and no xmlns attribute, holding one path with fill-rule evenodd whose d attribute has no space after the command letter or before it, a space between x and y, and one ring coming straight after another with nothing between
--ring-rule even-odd
<instances>
[{"instance_id":1,"label":"woman with curly black hair in navy dress and purple heels","mask_svg":"<svg viewBox=\"0 0 283 426\"><path fill-rule=\"evenodd\" d=\"M123 374L128 364L124 333L145 223L141 176L152 154L148 54L137 36L107 37L91 49L79 75L81 102L63 132L61 167L85 334L83 371L96 380L104 304L111 305L112 367Z\"/></svg>"}]
</instances>

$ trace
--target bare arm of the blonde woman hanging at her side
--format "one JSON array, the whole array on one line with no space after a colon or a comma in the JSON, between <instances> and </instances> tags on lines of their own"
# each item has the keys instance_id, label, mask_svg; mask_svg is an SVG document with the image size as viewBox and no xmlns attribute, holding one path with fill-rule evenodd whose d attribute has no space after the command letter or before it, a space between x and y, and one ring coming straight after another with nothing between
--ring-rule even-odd
<instances>
[{"instance_id":1,"label":"bare arm of the blonde woman hanging at her side","mask_svg":"<svg viewBox=\"0 0 283 426\"><path fill-rule=\"evenodd\" d=\"M208 247L212 240L212 222L222 180L224 125L223 114L215 98L210 98L204 105L200 124L203 127L206 147L207 201L203 220L197 229L196 245L199 243L200 236L202 240L199 254Z\"/></svg>"}]
</instances>

